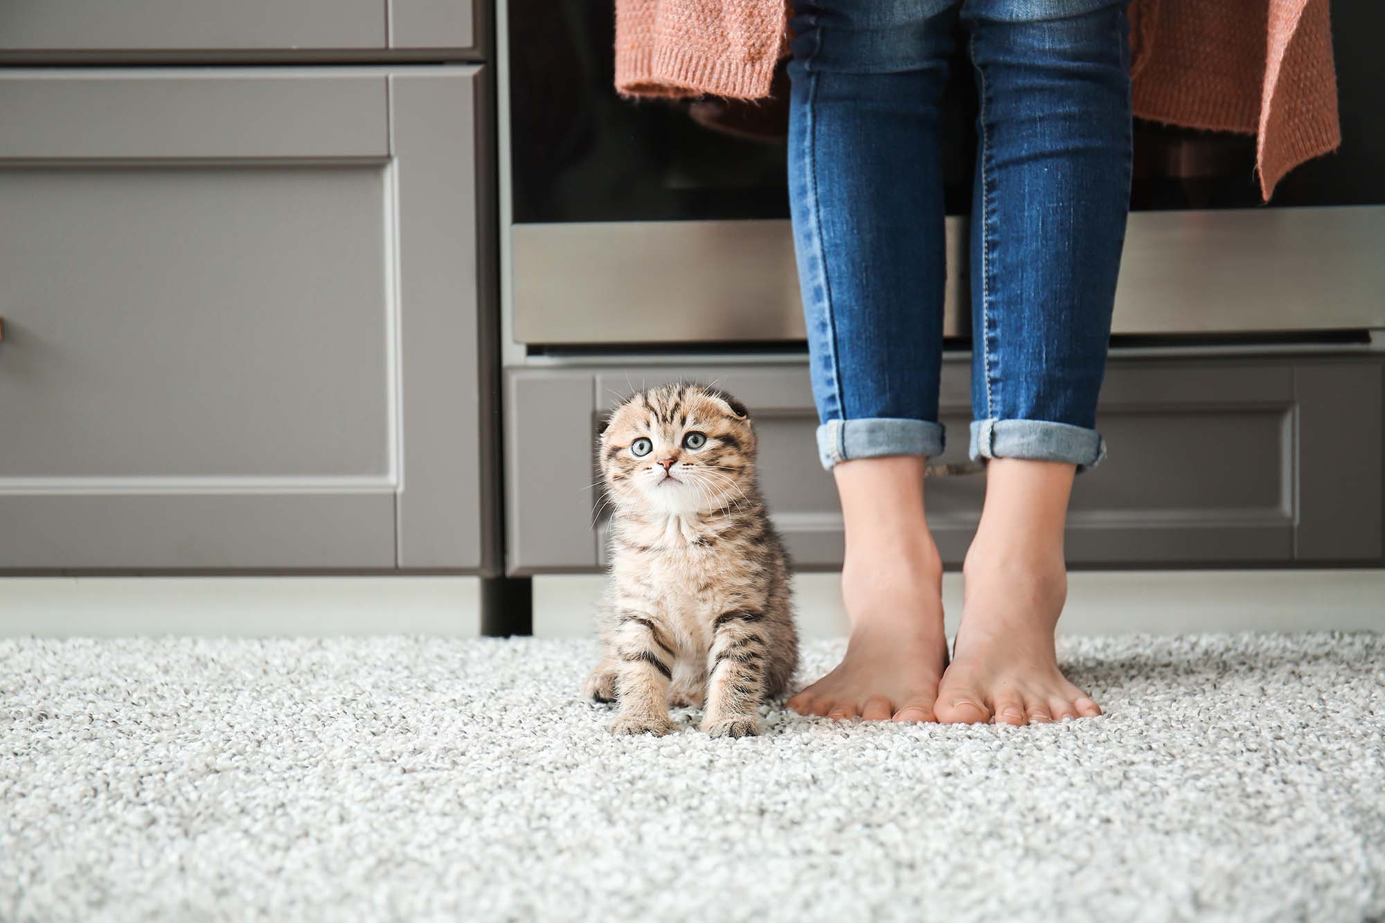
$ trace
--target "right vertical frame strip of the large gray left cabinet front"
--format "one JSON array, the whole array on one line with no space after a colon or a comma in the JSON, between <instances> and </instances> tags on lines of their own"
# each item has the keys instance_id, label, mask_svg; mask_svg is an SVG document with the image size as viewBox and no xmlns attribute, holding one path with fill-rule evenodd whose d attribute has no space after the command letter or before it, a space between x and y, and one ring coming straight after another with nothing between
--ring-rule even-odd
<instances>
[{"instance_id":1,"label":"right vertical frame strip of the large gray left cabinet front","mask_svg":"<svg viewBox=\"0 0 1385 923\"><path fill-rule=\"evenodd\" d=\"M399 563L479 565L476 82L391 78L403 306Z\"/></svg>"}]
</instances>

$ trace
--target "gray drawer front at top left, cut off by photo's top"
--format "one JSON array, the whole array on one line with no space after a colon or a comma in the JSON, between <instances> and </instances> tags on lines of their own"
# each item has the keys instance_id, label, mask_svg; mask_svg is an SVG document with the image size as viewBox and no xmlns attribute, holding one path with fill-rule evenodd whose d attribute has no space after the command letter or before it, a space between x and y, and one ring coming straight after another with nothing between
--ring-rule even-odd
<instances>
[{"instance_id":1,"label":"gray drawer front at top left, cut off by photo's top","mask_svg":"<svg viewBox=\"0 0 1385 923\"><path fill-rule=\"evenodd\" d=\"M476 58L474 0L6 0L0 62Z\"/></svg>"}]
</instances>

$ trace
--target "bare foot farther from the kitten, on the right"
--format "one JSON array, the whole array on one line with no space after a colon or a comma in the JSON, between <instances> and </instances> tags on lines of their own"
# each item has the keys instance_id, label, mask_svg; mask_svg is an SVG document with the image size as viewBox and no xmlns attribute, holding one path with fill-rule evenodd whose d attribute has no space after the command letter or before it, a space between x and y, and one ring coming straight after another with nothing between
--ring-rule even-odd
<instances>
[{"instance_id":1,"label":"bare foot farther from the kitten, on the right","mask_svg":"<svg viewBox=\"0 0 1385 923\"><path fill-rule=\"evenodd\" d=\"M1026 545L978 534L967 553L956 657L935 705L942 722L1028 725L1101 714L1058 669L1054 629L1068 596L1062 546Z\"/></svg>"}]
</instances>

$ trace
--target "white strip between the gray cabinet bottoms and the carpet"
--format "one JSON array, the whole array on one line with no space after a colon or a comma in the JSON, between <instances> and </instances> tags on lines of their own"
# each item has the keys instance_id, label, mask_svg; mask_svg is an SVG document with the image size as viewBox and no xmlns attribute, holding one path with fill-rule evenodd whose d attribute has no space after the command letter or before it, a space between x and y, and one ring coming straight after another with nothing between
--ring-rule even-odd
<instances>
[{"instance_id":1,"label":"white strip between the gray cabinet bottoms and the carpet","mask_svg":"<svg viewBox=\"0 0 1385 923\"><path fill-rule=\"evenodd\" d=\"M535 579L535 633L590 632L598 575ZM1069 581L1062 631L1385 629L1385 571L1122 571ZM949 631L961 577L943 581ZM805 638L845 633L835 574L796 578ZM479 582L465 577L0 578L0 636L475 635Z\"/></svg>"}]
</instances>

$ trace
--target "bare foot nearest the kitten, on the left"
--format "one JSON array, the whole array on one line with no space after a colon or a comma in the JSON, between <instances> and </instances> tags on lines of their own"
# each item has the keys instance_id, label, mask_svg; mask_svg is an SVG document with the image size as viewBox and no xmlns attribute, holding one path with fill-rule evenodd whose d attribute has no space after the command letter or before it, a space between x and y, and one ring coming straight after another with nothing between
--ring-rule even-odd
<instances>
[{"instance_id":1,"label":"bare foot nearest the kitten, on the left","mask_svg":"<svg viewBox=\"0 0 1385 923\"><path fill-rule=\"evenodd\" d=\"M942 563L932 539L913 553L896 547L864 565L849 561L842 595L852 618L846 657L788 707L834 719L936 721L947 639Z\"/></svg>"}]
</instances>

